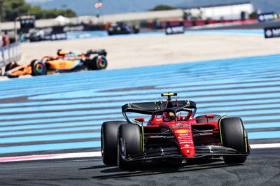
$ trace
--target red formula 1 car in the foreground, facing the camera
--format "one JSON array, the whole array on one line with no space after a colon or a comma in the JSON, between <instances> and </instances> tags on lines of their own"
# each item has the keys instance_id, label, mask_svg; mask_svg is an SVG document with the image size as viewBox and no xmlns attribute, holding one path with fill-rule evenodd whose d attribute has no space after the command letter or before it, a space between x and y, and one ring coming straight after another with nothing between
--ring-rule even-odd
<instances>
[{"instance_id":1,"label":"red formula 1 car in the foreground, facing the camera","mask_svg":"<svg viewBox=\"0 0 280 186\"><path fill-rule=\"evenodd\" d=\"M223 157L226 164L243 163L249 155L247 133L239 117L195 116L194 101L172 101L176 93L162 94L167 101L127 103L124 121L102 124L104 164L137 169L141 162ZM149 120L127 113L151 115ZM146 124L144 124L146 123Z\"/></svg>"}]
</instances>

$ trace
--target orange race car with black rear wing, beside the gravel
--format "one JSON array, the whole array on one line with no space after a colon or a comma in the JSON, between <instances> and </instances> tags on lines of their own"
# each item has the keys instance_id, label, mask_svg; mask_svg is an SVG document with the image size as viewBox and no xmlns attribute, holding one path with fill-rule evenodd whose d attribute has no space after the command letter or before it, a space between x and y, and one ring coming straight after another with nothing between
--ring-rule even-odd
<instances>
[{"instance_id":1,"label":"orange race car with black rear wing, beside the gravel","mask_svg":"<svg viewBox=\"0 0 280 186\"><path fill-rule=\"evenodd\" d=\"M53 72L69 72L106 69L106 50L89 50L85 54L58 50L57 56L44 56L41 60L34 59L32 62L18 65L10 62L6 65L5 75L8 78L18 78L22 75L40 76Z\"/></svg>"}]
</instances>

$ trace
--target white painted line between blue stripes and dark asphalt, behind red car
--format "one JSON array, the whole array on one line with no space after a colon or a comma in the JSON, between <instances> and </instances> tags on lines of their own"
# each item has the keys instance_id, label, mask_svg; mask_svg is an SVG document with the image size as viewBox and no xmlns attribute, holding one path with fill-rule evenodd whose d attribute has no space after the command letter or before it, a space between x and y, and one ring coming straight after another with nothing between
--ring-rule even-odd
<instances>
[{"instance_id":1,"label":"white painted line between blue stripes and dark asphalt, behind red car","mask_svg":"<svg viewBox=\"0 0 280 186\"><path fill-rule=\"evenodd\" d=\"M260 148L280 148L280 143L267 143L267 144L253 144L250 145L251 149ZM0 162L19 162L29 160L43 160L43 159L67 159L79 157L101 157L101 152L78 152L66 154L52 154L52 155L33 155L22 157L1 157Z\"/></svg>"}]
</instances>

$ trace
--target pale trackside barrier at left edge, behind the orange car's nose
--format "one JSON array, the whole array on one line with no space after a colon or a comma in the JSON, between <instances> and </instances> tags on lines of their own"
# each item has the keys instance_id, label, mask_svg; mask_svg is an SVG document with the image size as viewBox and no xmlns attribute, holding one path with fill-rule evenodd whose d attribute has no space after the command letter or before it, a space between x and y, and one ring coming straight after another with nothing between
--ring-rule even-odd
<instances>
[{"instance_id":1,"label":"pale trackside barrier at left edge, behind the orange car's nose","mask_svg":"<svg viewBox=\"0 0 280 186\"><path fill-rule=\"evenodd\" d=\"M22 55L20 43L12 43L0 48L0 68L9 62L18 61Z\"/></svg>"}]
</instances>

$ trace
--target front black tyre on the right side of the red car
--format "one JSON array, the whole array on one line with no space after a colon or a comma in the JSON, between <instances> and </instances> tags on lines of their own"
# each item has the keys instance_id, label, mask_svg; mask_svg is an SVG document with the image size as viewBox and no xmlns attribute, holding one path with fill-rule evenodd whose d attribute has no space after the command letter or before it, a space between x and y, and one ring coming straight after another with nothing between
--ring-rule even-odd
<instances>
[{"instance_id":1,"label":"front black tyre on the right side of the red car","mask_svg":"<svg viewBox=\"0 0 280 186\"><path fill-rule=\"evenodd\" d=\"M243 121L239 117L225 117L219 121L221 143L223 146L238 150L242 154L248 153L248 139ZM239 164L246 161L247 156L225 156L226 164Z\"/></svg>"}]
</instances>

